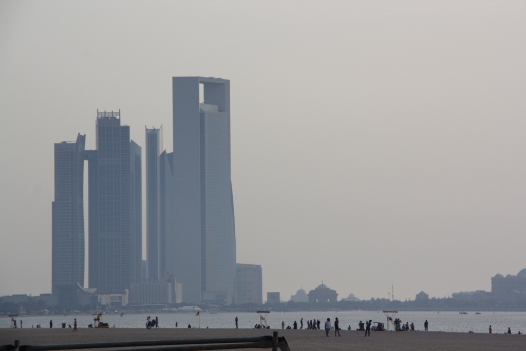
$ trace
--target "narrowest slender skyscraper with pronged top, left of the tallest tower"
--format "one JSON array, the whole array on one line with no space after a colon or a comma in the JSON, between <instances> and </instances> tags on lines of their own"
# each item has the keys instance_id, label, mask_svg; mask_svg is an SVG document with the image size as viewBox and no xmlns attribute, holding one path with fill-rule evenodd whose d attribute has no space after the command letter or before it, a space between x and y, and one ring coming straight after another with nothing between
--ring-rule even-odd
<instances>
[{"instance_id":1,"label":"narrowest slender skyscraper with pronged top, left of the tallest tower","mask_svg":"<svg viewBox=\"0 0 526 351\"><path fill-rule=\"evenodd\" d=\"M163 150L163 127L146 128L146 269L148 279L160 277L159 252L159 156Z\"/></svg>"}]
</instances>

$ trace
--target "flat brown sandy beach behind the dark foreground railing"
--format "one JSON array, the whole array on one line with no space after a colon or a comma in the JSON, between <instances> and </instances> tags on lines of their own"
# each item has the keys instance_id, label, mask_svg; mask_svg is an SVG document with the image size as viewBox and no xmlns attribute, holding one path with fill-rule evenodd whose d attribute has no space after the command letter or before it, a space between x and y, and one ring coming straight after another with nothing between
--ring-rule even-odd
<instances>
[{"instance_id":1,"label":"flat brown sandy beach behind the dark foreground railing","mask_svg":"<svg viewBox=\"0 0 526 351\"><path fill-rule=\"evenodd\" d=\"M80 328L77 333L63 328L0 329L0 345L53 345L135 340L173 340L272 335L276 329L128 329ZM524 350L526 336L507 334L444 332L362 332L341 330L341 337L330 337L324 330L277 330L285 336L291 351L313 350Z\"/></svg>"}]
</instances>

